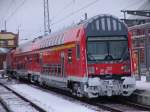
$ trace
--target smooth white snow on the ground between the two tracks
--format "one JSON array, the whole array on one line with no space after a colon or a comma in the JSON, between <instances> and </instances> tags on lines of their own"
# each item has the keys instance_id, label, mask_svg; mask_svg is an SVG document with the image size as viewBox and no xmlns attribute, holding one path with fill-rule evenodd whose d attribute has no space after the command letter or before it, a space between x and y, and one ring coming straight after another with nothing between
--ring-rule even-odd
<instances>
[{"instance_id":1,"label":"smooth white snow on the ground between the two tracks","mask_svg":"<svg viewBox=\"0 0 150 112\"><path fill-rule=\"evenodd\" d=\"M25 84L11 85L11 88L44 108L47 112L96 112L96 110L81 105L79 102L69 101Z\"/></svg>"}]
</instances>

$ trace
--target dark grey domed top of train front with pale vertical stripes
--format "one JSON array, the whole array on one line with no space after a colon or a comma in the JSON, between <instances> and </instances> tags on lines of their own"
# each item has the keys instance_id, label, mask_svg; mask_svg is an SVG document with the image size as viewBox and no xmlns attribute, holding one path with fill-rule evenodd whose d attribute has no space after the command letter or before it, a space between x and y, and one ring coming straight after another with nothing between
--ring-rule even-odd
<instances>
[{"instance_id":1,"label":"dark grey domed top of train front with pale vertical stripes","mask_svg":"<svg viewBox=\"0 0 150 112\"><path fill-rule=\"evenodd\" d=\"M87 36L127 35L128 27L119 18L103 14L84 23Z\"/></svg>"}]
</instances>

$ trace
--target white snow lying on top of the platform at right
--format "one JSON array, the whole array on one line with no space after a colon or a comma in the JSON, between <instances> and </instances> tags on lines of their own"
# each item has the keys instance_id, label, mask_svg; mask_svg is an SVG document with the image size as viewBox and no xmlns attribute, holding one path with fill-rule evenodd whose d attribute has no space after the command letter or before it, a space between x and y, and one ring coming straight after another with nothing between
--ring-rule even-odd
<instances>
[{"instance_id":1,"label":"white snow lying on top of the platform at right","mask_svg":"<svg viewBox=\"0 0 150 112\"><path fill-rule=\"evenodd\" d=\"M141 80L136 81L136 88L139 90L150 91L150 82L146 82L146 76L141 76Z\"/></svg>"}]
</instances>

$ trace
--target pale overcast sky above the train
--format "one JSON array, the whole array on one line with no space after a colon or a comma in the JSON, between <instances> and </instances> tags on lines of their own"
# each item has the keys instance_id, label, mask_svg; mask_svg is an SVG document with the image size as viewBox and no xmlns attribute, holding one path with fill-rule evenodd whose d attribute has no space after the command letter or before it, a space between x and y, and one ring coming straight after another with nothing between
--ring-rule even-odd
<instances>
[{"instance_id":1,"label":"pale overcast sky above the train","mask_svg":"<svg viewBox=\"0 0 150 112\"><path fill-rule=\"evenodd\" d=\"M123 18L122 9L137 9L148 0L49 0L52 32L98 14ZM82 10L80 10L82 9ZM43 0L0 0L0 29L7 21L7 30L17 32L20 40L33 39L44 33ZM79 11L80 10L80 11Z\"/></svg>"}]
</instances>

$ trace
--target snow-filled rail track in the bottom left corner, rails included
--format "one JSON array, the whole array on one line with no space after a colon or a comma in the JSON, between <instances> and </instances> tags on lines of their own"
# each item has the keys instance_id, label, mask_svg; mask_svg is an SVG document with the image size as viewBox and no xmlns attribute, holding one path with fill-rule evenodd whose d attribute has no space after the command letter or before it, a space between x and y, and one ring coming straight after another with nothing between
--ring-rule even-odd
<instances>
[{"instance_id":1,"label":"snow-filled rail track in the bottom left corner, rails included","mask_svg":"<svg viewBox=\"0 0 150 112\"><path fill-rule=\"evenodd\" d=\"M0 102L6 112L46 112L16 91L0 82Z\"/></svg>"}]
</instances>

